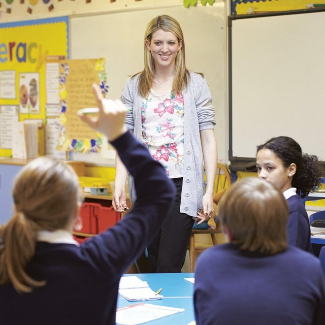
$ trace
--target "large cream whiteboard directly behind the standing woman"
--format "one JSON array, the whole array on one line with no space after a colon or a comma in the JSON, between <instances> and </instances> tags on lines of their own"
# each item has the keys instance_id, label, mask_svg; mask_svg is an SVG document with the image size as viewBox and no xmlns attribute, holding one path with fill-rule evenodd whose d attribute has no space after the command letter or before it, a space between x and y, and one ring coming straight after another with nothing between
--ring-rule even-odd
<instances>
[{"instance_id":1,"label":"large cream whiteboard directly behind the standing woman","mask_svg":"<svg viewBox=\"0 0 325 325\"><path fill-rule=\"evenodd\" d=\"M71 17L70 58L104 57L109 85L107 98L120 98L128 76L143 70L146 25L152 18L162 14L170 15L179 21L186 44L186 66L191 71L204 73L208 81L216 110L218 149L219 152L226 153L226 15L223 1L215 2L213 6L184 8L183 5L177 5ZM73 159L105 163L100 154L92 154L88 156L88 160L85 154L74 154Z\"/></svg>"}]
</instances>

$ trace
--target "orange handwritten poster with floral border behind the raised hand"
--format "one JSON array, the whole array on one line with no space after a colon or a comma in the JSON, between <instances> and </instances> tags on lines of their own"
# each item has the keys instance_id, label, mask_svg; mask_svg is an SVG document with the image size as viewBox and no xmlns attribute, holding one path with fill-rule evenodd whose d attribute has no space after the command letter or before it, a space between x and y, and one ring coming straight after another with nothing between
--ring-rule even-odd
<instances>
[{"instance_id":1,"label":"orange handwritten poster with floral border behind the raised hand","mask_svg":"<svg viewBox=\"0 0 325 325\"><path fill-rule=\"evenodd\" d=\"M105 59L78 59L59 61L59 136L57 150L75 152L100 152L102 135L82 122L77 111L96 107L92 93L93 83L99 84L102 92L106 86Z\"/></svg>"}]
</instances>

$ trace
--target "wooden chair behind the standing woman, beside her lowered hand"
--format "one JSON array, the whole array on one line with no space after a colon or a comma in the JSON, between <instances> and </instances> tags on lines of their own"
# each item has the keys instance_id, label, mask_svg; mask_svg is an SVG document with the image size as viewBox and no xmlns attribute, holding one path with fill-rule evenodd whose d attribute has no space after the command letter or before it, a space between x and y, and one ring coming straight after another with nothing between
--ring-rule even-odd
<instances>
[{"instance_id":1,"label":"wooden chair behind the standing woman, beside her lowered hand","mask_svg":"<svg viewBox=\"0 0 325 325\"><path fill-rule=\"evenodd\" d=\"M232 178L228 169L222 165L217 164L217 173L214 184L214 199L216 198L216 193L220 193L223 189L228 188L232 183ZM214 200L215 201L215 200ZM215 202L217 203L217 202ZM215 211L216 212L216 211ZM200 226L194 223L190 241L189 241L189 259L190 259L190 271L194 272L195 268L195 254L203 252L206 248L196 248L194 235L210 235L212 239L213 246L217 245L217 239L215 234L222 233L220 220L216 217L216 229L212 229L208 222L203 222ZM199 227L199 228L198 228Z\"/></svg>"}]
</instances>

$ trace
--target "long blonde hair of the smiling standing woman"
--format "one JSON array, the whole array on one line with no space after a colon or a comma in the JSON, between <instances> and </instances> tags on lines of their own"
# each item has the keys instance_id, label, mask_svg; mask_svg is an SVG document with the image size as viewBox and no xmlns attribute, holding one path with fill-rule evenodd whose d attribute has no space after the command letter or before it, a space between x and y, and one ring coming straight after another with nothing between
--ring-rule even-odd
<instances>
[{"instance_id":1,"label":"long blonde hair of the smiling standing woman","mask_svg":"<svg viewBox=\"0 0 325 325\"><path fill-rule=\"evenodd\" d=\"M157 16L148 23L144 36L144 70L139 76L139 93L145 98L149 94L155 75L154 59L146 46L146 40L151 42L152 34L158 29L171 31L177 37L178 43L182 42L182 47L175 58L173 91L178 93L186 89L190 78L189 71L185 65L185 42L180 24L176 19L168 15Z\"/></svg>"}]
</instances>

